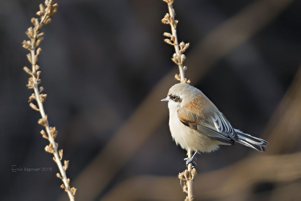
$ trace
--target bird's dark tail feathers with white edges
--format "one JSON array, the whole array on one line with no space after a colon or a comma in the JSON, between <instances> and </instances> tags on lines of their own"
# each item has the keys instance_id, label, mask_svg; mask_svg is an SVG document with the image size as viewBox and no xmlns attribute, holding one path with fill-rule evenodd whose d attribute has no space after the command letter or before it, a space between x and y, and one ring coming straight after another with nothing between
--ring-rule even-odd
<instances>
[{"instance_id":1,"label":"bird's dark tail feathers with white edges","mask_svg":"<svg viewBox=\"0 0 301 201\"><path fill-rule=\"evenodd\" d=\"M237 129L235 129L235 132L237 133L238 136L238 140L236 140L238 143L251 147L258 151L265 151L265 147L268 145L267 141L262 140L260 138L255 138Z\"/></svg>"}]
</instances>

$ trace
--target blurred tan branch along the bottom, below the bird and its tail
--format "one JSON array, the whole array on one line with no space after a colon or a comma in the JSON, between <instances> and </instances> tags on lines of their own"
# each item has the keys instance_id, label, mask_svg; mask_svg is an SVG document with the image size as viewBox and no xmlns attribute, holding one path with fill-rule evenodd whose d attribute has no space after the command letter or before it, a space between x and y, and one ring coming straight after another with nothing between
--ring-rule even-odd
<instances>
[{"instance_id":1,"label":"blurred tan branch along the bottom, below the bird and its tail","mask_svg":"<svg viewBox=\"0 0 301 201\"><path fill-rule=\"evenodd\" d=\"M287 182L301 178L301 152L252 156L227 168L203 173L194 184L195 199L212 199L248 190L260 181ZM218 182L217 182L218 180ZM173 177L138 176L121 182L101 201L176 200L178 183Z\"/></svg>"}]
</instances>

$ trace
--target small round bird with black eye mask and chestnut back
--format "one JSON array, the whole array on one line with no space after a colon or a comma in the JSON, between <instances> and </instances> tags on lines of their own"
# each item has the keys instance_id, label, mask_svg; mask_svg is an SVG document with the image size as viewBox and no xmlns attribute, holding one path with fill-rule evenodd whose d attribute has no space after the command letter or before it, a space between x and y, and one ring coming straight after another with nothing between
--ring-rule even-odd
<instances>
[{"instance_id":1,"label":"small round bird with black eye mask and chestnut back","mask_svg":"<svg viewBox=\"0 0 301 201\"><path fill-rule=\"evenodd\" d=\"M199 89L185 83L173 85L166 98L168 101L169 128L177 145L193 150L191 158L185 158L186 166L197 153L211 152L219 145L236 142L258 151L265 151L268 142L234 129L226 117Z\"/></svg>"}]
</instances>

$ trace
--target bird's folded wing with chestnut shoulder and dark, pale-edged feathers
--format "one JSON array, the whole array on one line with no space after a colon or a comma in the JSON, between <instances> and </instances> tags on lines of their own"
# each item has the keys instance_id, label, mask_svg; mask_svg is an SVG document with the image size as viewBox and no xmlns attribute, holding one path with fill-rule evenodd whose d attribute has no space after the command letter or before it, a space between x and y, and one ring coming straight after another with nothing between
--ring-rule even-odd
<instances>
[{"instance_id":1,"label":"bird's folded wing with chestnut shoulder and dark, pale-edged feathers","mask_svg":"<svg viewBox=\"0 0 301 201\"><path fill-rule=\"evenodd\" d=\"M227 144L235 144L237 134L222 113L204 118L182 107L178 110L178 118L184 125L203 135Z\"/></svg>"}]
</instances>

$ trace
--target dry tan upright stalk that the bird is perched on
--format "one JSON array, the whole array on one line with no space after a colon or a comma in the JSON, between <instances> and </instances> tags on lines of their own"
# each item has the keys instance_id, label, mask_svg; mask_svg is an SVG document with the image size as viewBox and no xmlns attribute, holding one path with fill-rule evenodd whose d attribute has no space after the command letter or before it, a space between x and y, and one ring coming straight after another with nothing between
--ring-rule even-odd
<instances>
[{"instance_id":1,"label":"dry tan upright stalk that the bird is perched on","mask_svg":"<svg viewBox=\"0 0 301 201\"><path fill-rule=\"evenodd\" d=\"M169 45L174 46L175 54L173 54L172 56L172 61L178 65L179 72L180 72L179 75L178 74L175 75L175 79L177 79L180 82L189 84L190 80L187 80L185 78L185 73L184 73L187 67L183 65L183 62L186 58L183 53L189 47L189 43L186 44L184 42L180 42L180 44L178 43L178 37L176 31L178 20L175 20L175 10L172 8L172 4L174 0L163 0L163 1L167 3L169 13L166 13L161 21L164 24L169 24L172 32L172 33L165 32L163 34L164 36L169 38L169 39L164 39L164 41ZM189 158L192 157L192 151L190 149L187 150L187 156ZM183 191L187 193L185 201L193 201L194 196L192 192L192 182L197 177L197 171L195 168L192 169L192 163L189 163L187 169L179 173L178 177L181 180L181 182L182 180L184 181Z\"/></svg>"}]
</instances>

